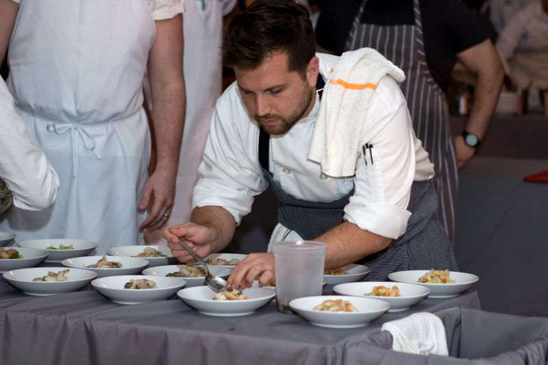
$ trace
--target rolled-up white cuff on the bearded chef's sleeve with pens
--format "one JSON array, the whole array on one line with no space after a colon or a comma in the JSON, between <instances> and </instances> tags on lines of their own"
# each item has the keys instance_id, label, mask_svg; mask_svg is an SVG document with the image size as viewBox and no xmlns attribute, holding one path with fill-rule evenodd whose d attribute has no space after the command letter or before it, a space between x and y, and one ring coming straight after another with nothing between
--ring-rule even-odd
<instances>
[{"instance_id":1,"label":"rolled-up white cuff on the bearded chef's sleeve with pens","mask_svg":"<svg viewBox=\"0 0 548 365\"><path fill-rule=\"evenodd\" d=\"M347 205L345 221L379 236L399 238L407 229L411 212L386 201L367 203L366 207Z\"/></svg>"}]
</instances>

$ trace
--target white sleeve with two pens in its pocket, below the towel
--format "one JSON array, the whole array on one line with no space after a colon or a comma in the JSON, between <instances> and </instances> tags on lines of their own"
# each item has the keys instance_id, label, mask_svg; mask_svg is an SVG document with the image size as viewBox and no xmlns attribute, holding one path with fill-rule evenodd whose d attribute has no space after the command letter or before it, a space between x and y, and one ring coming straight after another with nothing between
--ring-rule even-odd
<instances>
[{"instance_id":1,"label":"white sleeve with two pens in its pocket, below the towel","mask_svg":"<svg viewBox=\"0 0 548 365\"><path fill-rule=\"evenodd\" d=\"M397 83L384 77L362 123L362 147L356 160L355 192L345 221L396 239L407 227L415 172L414 133L407 104ZM371 147L373 146L373 147ZM369 148L366 148L369 147Z\"/></svg>"}]
</instances>

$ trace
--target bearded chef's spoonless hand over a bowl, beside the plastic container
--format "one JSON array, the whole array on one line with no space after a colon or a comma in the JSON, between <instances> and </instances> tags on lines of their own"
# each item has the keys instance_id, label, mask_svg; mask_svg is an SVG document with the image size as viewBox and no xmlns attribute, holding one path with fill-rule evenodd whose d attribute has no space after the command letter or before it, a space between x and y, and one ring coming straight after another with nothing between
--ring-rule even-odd
<instances>
[{"instance_id":1,"label":"bearded chef's spoonless hand over a bowl, beside the plastic container","mask_svg":"<svg viewBox=\"0 0 548 365\"><path fill-rule=\"evenodd\" d=\"M232 270L227 284L233 289L250 288L255 280L266 285L275 278L274 272L273 253L250 253Z\"/></svg>"}]
</instances>

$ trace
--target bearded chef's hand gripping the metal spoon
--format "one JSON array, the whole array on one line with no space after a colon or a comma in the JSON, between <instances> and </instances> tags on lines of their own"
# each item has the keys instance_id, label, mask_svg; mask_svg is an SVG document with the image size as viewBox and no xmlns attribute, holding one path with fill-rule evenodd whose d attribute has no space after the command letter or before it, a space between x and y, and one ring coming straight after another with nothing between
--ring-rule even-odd
<instances>
[{"instance_id":1,"label":"bearded chef's hand gripping the metal spoon","mask_svg":"<svg viewBox=\"0 0 548 365\"><path fill-rule=\"evenodd\" d=\"M166 239L171 253L177 257L177 260L180 262L194 262L195 258L179 244L179 238L184 240L200 257L206 257L212 253L212 242L216 234L214 229L203 225L185 223L184 225L164 229L162 236Z\"/></svg>"}]
</instances>

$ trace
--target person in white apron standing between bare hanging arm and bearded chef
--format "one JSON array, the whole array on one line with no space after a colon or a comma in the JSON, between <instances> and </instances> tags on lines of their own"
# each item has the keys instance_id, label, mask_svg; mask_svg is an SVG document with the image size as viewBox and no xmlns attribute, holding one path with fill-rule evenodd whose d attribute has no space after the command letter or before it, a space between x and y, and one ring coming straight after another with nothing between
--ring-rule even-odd
<instances>
[{"instance_id":1,"label":"person in white apron standing between bare hanging arm and bearded chef","mask_svg":"<svg viewBox=\"0 0 548 365\"><path fill-rule=\"evenodd\" d=\"M184 72L187 90L184 135L175 185L175 204L168 225L188 221L192 210L192 190L198 181L198 166L210 133L215 101L221 96L221 32L223 16L236 0L201 0L186 4L184 12ZM148 83L145 95L149 97ZM163 244L160 231L145 234L148 243Z\"/></svg>"}]
</instances>

